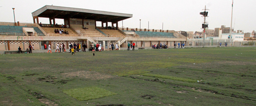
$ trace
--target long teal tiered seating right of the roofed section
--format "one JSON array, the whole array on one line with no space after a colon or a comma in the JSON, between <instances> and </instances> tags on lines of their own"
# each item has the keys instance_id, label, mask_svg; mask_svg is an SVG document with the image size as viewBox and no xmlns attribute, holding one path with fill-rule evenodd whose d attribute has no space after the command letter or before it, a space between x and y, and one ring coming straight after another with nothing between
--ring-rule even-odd
<instances>
[{"instance_id":1,"label":"long teal tiered seating right of the roofed section","mask_svg":"<svg viewBox=\"0 0 256 106\"><path fill-rule=\"evenodd\" d=\"M176 38L174 36L174 33L166 33L166 32L135 31L135 33L142 37L172 37L172 38Z\"/></svg>"}]
</instances>

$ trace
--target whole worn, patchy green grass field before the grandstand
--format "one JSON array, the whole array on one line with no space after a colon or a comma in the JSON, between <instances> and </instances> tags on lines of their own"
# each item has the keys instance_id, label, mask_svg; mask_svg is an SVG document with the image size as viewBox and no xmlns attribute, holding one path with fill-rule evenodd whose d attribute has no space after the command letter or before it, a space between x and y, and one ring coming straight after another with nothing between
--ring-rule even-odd
<instances>
[{"instance_id":1,"label":"whole worn, patchy green grass field before the grandstand","mask_svg":"<svg viewBox=\"0 0 256 106\"><path fill-rule=\"evenodd\" d=\"M0 55L0 105L255 106L256 47Z\"/></svg>"}]
</instances>

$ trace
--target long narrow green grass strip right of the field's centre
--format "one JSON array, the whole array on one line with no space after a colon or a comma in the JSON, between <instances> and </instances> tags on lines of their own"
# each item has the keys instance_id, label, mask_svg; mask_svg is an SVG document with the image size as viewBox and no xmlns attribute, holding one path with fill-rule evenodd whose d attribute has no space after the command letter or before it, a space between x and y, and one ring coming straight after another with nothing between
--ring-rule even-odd
<instances>
[{"instance_id":1,"label":"long narrow green grass strip right of the field's centre","mask_svg":"<svg viewBox=\"0 0 256 106\"><path fill-rule=\"evenodd\" d=\"M159 75L159 74L141 73L139 75L156 77L156 78L166 78L166 79L177 80L177 81L196 82L196 80L193 80L193 79L180 78L180 77L167 76L167 75Z\"/></svg>"}]
</instances>

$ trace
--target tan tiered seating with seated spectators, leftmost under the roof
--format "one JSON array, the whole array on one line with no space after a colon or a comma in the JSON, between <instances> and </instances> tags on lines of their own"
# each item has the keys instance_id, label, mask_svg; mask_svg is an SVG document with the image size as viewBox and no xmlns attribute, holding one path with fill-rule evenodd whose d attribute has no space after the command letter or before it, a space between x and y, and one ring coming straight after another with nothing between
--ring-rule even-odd
<instances>
[{"instance_id":1,"label":"tan tiered seating with seated spectators, leftmost under the roof","mask_svg":"<svg viewBox=\"0 0 256 106\"><path fill-rule=\"evenodd\" d=\"M44 29L44 31L47 34L50 34L50 36L59 36L59 33L55 33L54 29L63 29L63 31L68 31L68 36L77 36L77 33L75 33L73 30L71 30L70 28L50 28L50 27L42 27ZM64 33L62 35L65 35Z\"/></svg>"}]
</instances>

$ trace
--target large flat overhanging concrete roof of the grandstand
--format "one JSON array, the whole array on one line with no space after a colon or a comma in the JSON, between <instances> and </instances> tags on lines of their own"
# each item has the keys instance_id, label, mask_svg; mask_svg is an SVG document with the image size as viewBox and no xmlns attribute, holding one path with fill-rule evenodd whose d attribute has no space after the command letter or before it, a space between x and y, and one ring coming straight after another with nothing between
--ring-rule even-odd
<instances>
[{"instance_id":1,"label":"large flat overhanging concrete roof of the grandstand","mask_svg":"<svg viewBox=\"0 0 256 106\"><path fill-rule=\"evenodd\" d=\"M32 12L32 17L60 18L67 17L77 19L88 19L102 22L118 22L132 17L132 14L97 11L82 8L70 8L61 6L44 6Z\"/></svg>"}]
</instances>

